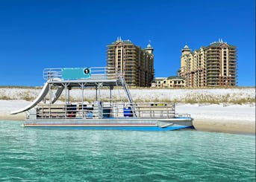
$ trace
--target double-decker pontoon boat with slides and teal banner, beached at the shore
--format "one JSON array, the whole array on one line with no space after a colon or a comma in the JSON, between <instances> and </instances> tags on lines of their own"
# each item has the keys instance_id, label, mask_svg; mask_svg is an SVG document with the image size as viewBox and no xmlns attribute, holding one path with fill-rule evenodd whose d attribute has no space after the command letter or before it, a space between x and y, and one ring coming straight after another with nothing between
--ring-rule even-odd
<instances>
[{"instance_id":1,"label":"double-decker pontoon boat with slides and teal banner, beached at the shore","mask_svg":"<svg viewBox=\"0 0 256 182\"><path fill-rule=\"evenodd\" d=\"M174 103L134 103L124 77L110 74L109 68L46 68L43 78L47 81L36 100L10 113L26 111L25 127L141 131L193 128L189 114L175 114ZM127 100L113 102L113 88L120 87ZM72 88L81 91L76 103L69 100ZM84 100L85 88L96 88L94 102ZM102 100L102 88L110 89L110 100ZM56 102L62 93L65 101Z\"/></svg>"}]
</instances>

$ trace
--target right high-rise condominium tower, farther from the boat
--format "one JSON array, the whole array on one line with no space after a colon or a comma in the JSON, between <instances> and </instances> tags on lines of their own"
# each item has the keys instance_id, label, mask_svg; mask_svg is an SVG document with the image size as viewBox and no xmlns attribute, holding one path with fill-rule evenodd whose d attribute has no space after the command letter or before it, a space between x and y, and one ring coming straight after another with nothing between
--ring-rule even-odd
<instances>
[{"instance_id":1,"label":"right high-rise condominium tower, farther from the boat","mask_svg":"<svg viewBox=\"0 0 256 182\"><path fill-rule=\"evenodd\" d=\"M237 47L219 40L191 52L181 50L181 68L187 87L228 87L237 85Z\"/></svg>"}]
</instances>

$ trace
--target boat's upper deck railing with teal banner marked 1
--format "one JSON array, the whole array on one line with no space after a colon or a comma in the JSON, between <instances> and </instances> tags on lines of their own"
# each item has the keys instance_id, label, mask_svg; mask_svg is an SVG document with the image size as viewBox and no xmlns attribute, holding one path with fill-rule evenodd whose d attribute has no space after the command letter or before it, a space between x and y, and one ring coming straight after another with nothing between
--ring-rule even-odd
<instances>
[{"instance_id":1,"label":"boat's upper deck railing with teal banner marked 1","mask_svg":"<svg viewBox=\"0 0 256 182\"><path fill-rule=\"evenodd\" d=\"M116 79L117 74L110 70L110 67L45 68L43 79Z\"/></svg>"}]
</instances>

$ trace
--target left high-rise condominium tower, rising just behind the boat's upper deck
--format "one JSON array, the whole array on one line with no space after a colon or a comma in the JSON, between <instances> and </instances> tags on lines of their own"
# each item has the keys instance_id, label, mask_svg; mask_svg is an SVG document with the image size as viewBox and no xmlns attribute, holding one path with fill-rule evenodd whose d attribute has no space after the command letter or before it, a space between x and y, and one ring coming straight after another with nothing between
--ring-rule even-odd
<instances>
[{"instance_id":1,"label":"left high-rise condominium tower, rising just behind the boat's upper deck","mask_svg":"<svg viewBox=\"0 0 256 182\"><path fill-rule=\"evenodd\" d=\"M107 45L107 71L124 75L128 85L150 87L154 79L154 49L142 49L119 37Z\"/></svg>"}]
</instances>

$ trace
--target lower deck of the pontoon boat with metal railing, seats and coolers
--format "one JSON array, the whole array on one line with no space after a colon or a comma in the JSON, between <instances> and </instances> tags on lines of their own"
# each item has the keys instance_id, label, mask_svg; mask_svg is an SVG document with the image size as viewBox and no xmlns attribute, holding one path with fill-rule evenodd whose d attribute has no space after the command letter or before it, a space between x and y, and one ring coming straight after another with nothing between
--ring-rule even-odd
<instances>
[{"instance_id":1,"label":"lower deck of the pontoon boat with metal railing, seats and coolers","mask_svg":"<svg viewBox=\"0 0 256 182\"><path fill-rule=\"evenodd\" d=\"M134 104L136 113L130 103L93 103L75 105L37 105L37 119L107 119L107 118L174 118L173 103L141 103ZM184 114L182 114L184 116Z\"/></svg>"}]
</instances>

